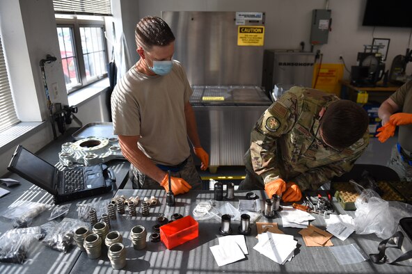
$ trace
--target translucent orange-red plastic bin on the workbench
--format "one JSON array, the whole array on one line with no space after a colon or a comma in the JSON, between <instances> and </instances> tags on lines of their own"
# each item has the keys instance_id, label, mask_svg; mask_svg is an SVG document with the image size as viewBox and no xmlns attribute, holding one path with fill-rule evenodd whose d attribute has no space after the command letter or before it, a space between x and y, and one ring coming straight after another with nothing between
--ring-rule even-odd
<instances>
[{"instance_id":1,"label":"translucent orange-red plastic bin on the workbench","mask_svg":"<svg viewBox=\"0 0 412 274\"><path fill-rule=\"evenodd\" d=\"M160 227L160 239L168 249L196 239L198 236L199 224L191 216L180 218Z\"/></svg>"}]
</instances>

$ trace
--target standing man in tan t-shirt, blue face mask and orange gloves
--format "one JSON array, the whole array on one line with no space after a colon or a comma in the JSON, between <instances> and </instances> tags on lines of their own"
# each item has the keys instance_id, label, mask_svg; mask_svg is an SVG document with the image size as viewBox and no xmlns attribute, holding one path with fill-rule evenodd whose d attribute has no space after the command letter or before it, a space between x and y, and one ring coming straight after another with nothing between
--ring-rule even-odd
<instances>
[{"instance_id":1,"label":"standing man in tan t-shirt, blue face mask and orange gloves","mask_svg":"<svg viewBox=\"0 0 412 274\"><path fill-rule=\"evenodd\" d=\"M138 62L122 77L111 95L114 133L131 165L133 188L168 187L171 172L175 195L201 188L193 152L209 164L200 145L192 94L182 65L173 61L175 36L159 17L144 17L135 31Z\"/></svg>"}]
</instances>

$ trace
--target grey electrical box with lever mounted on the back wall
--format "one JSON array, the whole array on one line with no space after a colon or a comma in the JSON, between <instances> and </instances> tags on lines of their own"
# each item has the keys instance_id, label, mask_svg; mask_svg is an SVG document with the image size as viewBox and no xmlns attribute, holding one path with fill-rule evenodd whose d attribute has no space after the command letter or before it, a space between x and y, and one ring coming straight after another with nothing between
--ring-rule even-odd
<instances>
[{"instance_id":1,"label":"grey electrical box with lever mounted on the back wall","mask_svg":"<svg viewBox=\"0 0 412 274\"><path fill-rule=\"evenodd\" d=\"M328 42L331 29L331 10L313 10L310 28L310 44L322 45Z\"/></svg>"}]
</instances>

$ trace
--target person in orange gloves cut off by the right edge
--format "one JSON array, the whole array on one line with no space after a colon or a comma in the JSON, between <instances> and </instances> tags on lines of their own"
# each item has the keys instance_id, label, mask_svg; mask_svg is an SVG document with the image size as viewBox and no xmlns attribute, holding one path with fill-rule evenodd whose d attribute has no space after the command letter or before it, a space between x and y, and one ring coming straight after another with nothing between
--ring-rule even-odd
<instances>
[{"instance_id":1,"label":"person in orange gloves cut off by the right edge","mask_svg":"<svg viewBox=\"0 0 412 274\"><path fill-rule=\"evenodd\" d=\"M378 129L377 137L382 143L393 136L395 127L399 126L398 143L393 147L388 166L401 180L412 182L412 81L386 99L378 115L383 127Z\"/></svg>"}]
</instances>

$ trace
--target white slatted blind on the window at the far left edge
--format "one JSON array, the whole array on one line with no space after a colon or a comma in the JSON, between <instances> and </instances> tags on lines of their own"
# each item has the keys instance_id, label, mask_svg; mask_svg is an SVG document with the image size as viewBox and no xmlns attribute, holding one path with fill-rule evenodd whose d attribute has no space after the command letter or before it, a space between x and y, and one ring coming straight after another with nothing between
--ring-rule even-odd
<instances>
[{"instance_id":1,"label":"white slatted blind on the window at the far left edge","mask_svg":"<svg viewBox=\"0 0 412 274\"><path fill-rule=\"evenodd\" d=\"M0 132L20 122L11 96L10 84L0 36Z\"/></svg>"}]
</instances>

